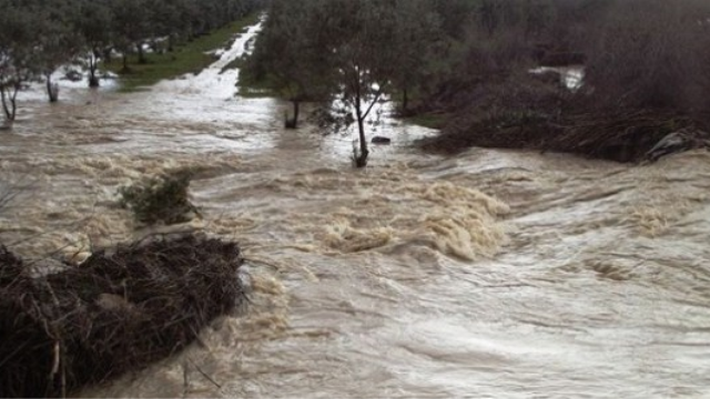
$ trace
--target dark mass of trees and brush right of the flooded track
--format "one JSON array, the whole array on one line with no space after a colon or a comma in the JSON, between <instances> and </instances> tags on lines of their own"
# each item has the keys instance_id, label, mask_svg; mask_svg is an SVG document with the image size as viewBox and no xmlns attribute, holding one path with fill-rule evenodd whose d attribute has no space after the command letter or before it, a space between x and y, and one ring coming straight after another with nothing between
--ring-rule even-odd
<instances>
[{"instance_id":1,"label":"dark mass of trees and brush right of the flooded track","mask_svg":"<svg viewBox=\"0 0 710 399\"><path fill-rule=\"evenodd\" d=\"M243 78L295 111L306 100L345 104L358 165L363 121L383 96L452 136L478 137L466 145L540 146L540 132L589 113L661 110L676 115L672 130L708 109L706 0L272 0L268 16ZM565 64L584 64L581 88L529 72Z\"/></svg>"}]
</instances>

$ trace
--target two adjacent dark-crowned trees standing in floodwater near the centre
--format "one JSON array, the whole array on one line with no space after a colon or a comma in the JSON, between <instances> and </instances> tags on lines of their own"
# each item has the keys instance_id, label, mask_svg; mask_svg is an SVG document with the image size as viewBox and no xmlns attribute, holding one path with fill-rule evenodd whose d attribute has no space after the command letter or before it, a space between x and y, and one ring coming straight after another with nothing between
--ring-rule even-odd
<instances>
[{"instance_id":1,"label":"two adjacent dark-crowned trees standing in floodwater near the centre","mask_svg":"<svg viewBox=\"0 0 710 399\"><path fill-rule=\"evenodd\" d=\"M266 83L294 106L304 100L336 108L336 124L355 124L357 167L367 164L366 121L393 93L406 110L440 40L435 0L273 0L244 75ZM323 114L323 113L322 113ZM332 113L325 114L333 116Z\"/></svg>"}]
</instances>

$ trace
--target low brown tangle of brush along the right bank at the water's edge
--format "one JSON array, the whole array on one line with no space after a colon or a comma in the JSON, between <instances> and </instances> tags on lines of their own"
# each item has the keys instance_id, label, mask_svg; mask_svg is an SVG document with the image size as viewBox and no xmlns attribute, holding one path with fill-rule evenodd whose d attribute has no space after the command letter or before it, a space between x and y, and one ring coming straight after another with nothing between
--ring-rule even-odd
<instances>
[{"instance_id":1,"label":"low brown tangle of brush along the right bank at the water's edge","mask_svg":"<svg viewBox=\"0 0 710 399\"><path fill-rule=\"evenodd\" d=\"M673 152L708 147L710 135L694 125L687 116L650 110L484 119L452 123L438 137L425 142L425 147L446 153L470 146L534 149L618 162L656 161ZM682 142L666 145L667 136L673 133L682 136ZM663 151L657 151L659 146Z\"/></svg>"}]
</instances>

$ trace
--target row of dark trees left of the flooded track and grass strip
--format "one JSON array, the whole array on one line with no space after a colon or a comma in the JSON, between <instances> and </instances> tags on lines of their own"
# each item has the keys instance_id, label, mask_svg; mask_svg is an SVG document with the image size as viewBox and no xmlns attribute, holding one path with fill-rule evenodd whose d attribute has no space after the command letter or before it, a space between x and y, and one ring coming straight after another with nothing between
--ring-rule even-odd
<instances>
[{"instance_id":1,"label":"row of dark trees left of the flooded track and grass strip","mask_svg":"<svg viewBox=\"0 0 710 399\"><path fill-rule=\"evenodd\" d=\"M112 50L138 53L148 43L165 50L244 17L262 0L0 0L0 93L4 116L22 82L49 76L81 60L89 84ZM48 82L48 89L51 83ZM50 90L51 92L51 90Z\"/></svg>"}]
</instances>

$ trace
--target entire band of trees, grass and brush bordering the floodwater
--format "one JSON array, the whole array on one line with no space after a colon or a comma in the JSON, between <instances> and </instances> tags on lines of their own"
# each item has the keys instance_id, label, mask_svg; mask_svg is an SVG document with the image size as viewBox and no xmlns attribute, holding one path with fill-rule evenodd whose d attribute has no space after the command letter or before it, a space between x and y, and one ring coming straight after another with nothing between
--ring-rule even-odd
<instances>
[{"instance_id":1,"label":"entire band of trees, grass and brush bordering the floodwater","mask_svg":"<svg viewBox=\"0 0 710 399\"><path fill-rule=\"evenodd\" d=\"M0 0L2 127L26 82L43 79L58 100L50 78L60 65L82 61L90 86L104 65L120 73L123 90L140 90L202 70L209 52L265 6L252 55L224 70L241 66L242 95L291 102L285 127L297 127L306 101L331 129L355 126L361 167L368 117L393 99L402 116L442 127L455 149L532 146L630 161L638 152L629 145L659 139L652 126L710 126L707 0ZM574 90L555 70L530 73L571 64L585 69ZM612 132L589 146L594 120Z\"/></svg>"}]
</instances>

